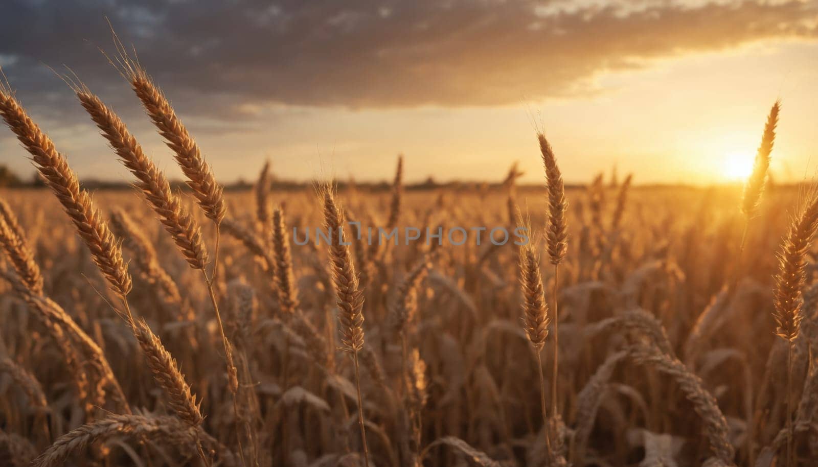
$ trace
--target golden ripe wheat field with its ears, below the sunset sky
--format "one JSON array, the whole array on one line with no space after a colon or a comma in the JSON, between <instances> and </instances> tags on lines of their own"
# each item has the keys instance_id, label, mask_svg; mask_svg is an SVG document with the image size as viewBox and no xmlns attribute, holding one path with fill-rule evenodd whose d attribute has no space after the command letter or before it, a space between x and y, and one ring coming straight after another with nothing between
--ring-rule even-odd
<instances>
[{"instance_id":1,"label":"golden ripe wheat field with its ears, below the sunset sky","mask_svg":"<svg viewBox=\"0 0 818 467\"><path fill-rule=\"evenodd\" d=\"M565 187L533 132L538 187L407 190L407 156L389 191L225 192L119 66L188 190L71 82L133 175L90 193L0 87L46 185L0 192L3 466L816 465L818 198L766 180L778 103L744 191Z\"/></svg>"}]
</instances>

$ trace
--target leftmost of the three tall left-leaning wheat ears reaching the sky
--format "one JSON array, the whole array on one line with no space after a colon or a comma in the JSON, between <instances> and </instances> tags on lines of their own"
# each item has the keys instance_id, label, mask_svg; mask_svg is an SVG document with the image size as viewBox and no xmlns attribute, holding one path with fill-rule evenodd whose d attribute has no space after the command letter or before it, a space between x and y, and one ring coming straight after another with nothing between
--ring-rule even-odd
<instances>
[{"instance_id":1,"label":"leftmost of the three tall left-leaning wheat ears reaching the sky","mask_svg":"<svg viewBox=\"0 0 818 467\"><path fill-rule=\"evenodd\" d=\"M131 276L122 260L119 243L110 232L101 213L94 207L91 195L80 189L74 171L65 156L25 110L5 85L0 84L0 116L20 143L29 151L38 172L74 222L79 236L91 251L91 256L111 288L124 297L131 290Z\"/></svg>"}]
</instances>

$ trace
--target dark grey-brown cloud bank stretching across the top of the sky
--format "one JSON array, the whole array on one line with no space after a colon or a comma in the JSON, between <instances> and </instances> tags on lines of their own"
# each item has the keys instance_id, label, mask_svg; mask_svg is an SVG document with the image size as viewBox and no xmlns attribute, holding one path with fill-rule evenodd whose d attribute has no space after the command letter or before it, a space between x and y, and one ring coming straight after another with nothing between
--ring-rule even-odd
<instances>
[{"instance_id":1,"label":"dark grey-brown cloud bank stretching across the top of the sky","mask_svg":"<svg viewBox=\"0 0 818 467\"><path fill-rule=\"evenodd\" d=\"M182 111L237 119L267 103L491 106L585 95L596 74L654 58L813 38L818 20L815 1L556 5L11 0L0 7L0 64L20 93L38 93L25 101L39 106L68 94L42 63L70 65L96 91L124 99L96 50L113 48L108 16Z\"/></svg>"}]
</instances>

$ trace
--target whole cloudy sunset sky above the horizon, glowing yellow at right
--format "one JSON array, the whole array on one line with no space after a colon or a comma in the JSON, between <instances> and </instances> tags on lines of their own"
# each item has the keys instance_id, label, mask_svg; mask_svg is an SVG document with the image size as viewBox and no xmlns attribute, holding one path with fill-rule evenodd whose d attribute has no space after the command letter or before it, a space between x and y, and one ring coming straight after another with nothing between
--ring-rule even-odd
<instances>
[{"instance_id":1,"label":"whole cloudy sunset sky above the horizon, glowing yellow at right","mask_svg":"<svg viewBox=\"0 0 818 467\"><path fill-rule=\"evenodd\" d=\"M110 26L109 22L110 21ZM567 182L730 182L782 101L771 171L818 162L818 0L4 0L0 67L81 178L129 182L69 67L181 178L102 51L113 27L222 182L434 177L541 182L535 132ZM7 128L0 164L34 170Z\"/></svg>"}]
</instances>

